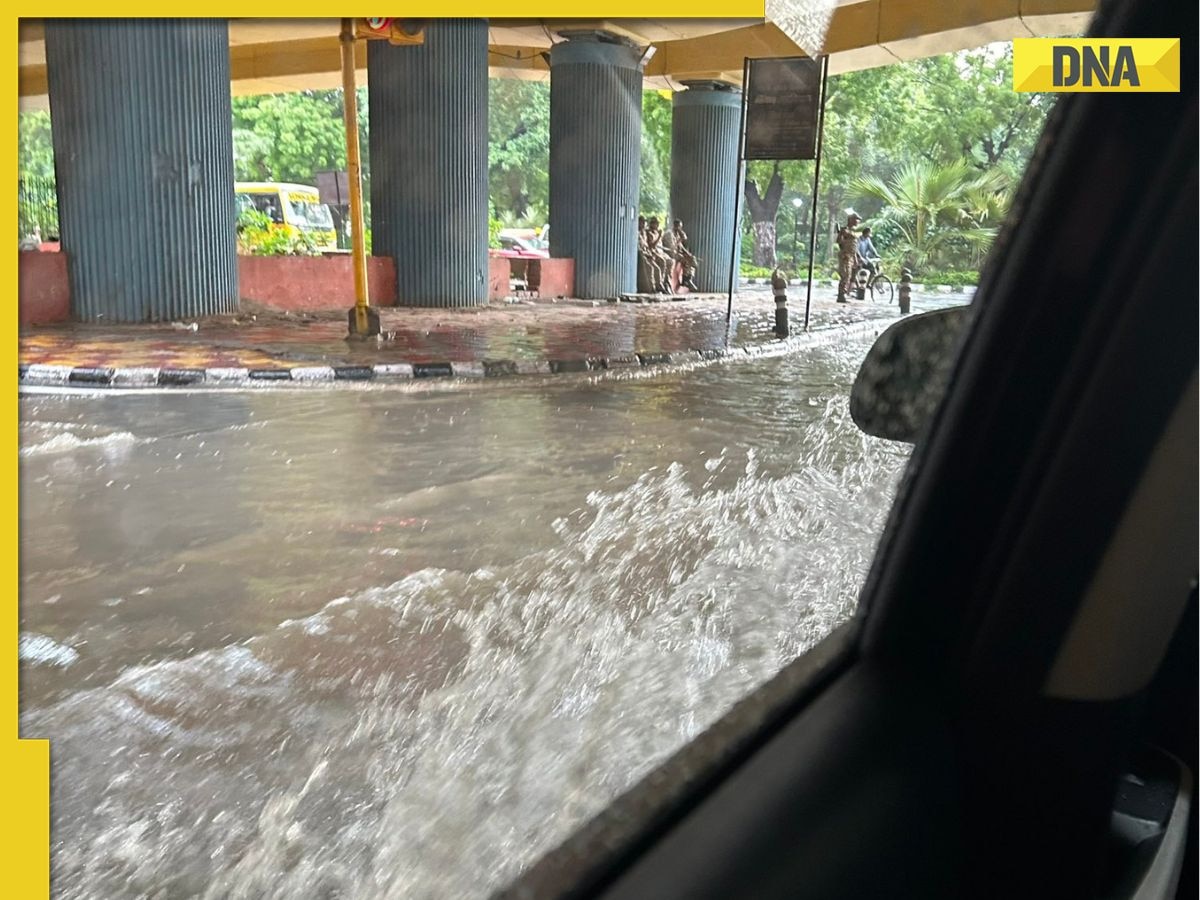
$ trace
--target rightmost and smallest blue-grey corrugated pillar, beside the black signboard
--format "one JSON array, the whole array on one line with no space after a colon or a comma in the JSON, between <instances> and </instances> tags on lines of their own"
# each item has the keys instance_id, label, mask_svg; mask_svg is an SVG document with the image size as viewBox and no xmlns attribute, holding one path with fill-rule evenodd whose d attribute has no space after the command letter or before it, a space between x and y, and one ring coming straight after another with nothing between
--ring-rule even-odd
<instances>
[{"instance_id":1,"label":"rightmost and smallest blue-grey corrugated pillar, beside the black signboard","mask_svg":"<svg viewBox=\"0 0 1200 900\"><path fill-rule=\"evenodd\" d=\"M713 82L689 85L672 103L671 215L683 220L700 259L701 290L728 289L734 230L740 244L733 222L740 115L742 91Z\"/></svg>"}]
</instances>

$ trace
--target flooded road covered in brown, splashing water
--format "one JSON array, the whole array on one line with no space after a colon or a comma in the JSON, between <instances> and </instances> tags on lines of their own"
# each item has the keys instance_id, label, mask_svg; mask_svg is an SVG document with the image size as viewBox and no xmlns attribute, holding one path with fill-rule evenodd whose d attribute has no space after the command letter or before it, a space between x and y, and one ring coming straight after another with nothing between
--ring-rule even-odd
<instances>
[{"instance_id":1,"label":"flooded road covered in brown, splashing water","mask_svg":"<svg viewBox=\"0 0 1200 900\"><path fill-rule=\"evenodd\" d=\"M481 896L853 610L869 347L23 396L55 896Z\"/></svg>"}]
</instances>

